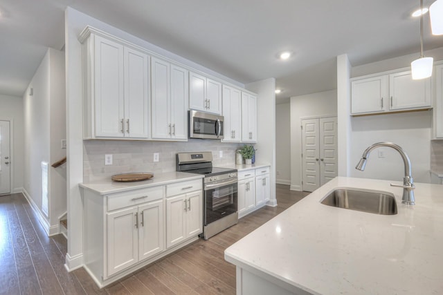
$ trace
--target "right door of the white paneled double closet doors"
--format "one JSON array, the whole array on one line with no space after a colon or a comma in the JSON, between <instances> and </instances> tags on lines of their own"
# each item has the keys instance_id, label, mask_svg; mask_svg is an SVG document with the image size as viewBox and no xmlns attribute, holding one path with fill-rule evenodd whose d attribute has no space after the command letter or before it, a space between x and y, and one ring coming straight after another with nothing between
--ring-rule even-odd
<instances>
[{"instance_id":1,"label":"right door of the white paneled double closet doors","mask_svg":"<svg viewBox=\"0 0 443 295\"><path fill-rule=\"evenodd\" d=\"M337 173L337 117L320 118L320 185Z\"/></svg>"}]
</instances>

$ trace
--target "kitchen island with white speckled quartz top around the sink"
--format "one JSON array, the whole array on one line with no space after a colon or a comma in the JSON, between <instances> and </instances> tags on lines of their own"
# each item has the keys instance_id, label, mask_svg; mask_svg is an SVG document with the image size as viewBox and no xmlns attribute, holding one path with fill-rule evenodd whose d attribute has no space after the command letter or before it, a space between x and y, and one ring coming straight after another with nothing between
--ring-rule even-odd
<instances>
[{"instance_id":1,"label":"kitchen island with white speckled quartz top around the sink","mask_svg":"<svg viewBox=\"0 0 443 295\"><path fill-rule=\"evenodd\" d=\"M411 206L390 183L334 178L230 246L237 294L442 294L443 186L415 184ZM398 213L321 204L336 188L393 193Z\"/></svg>"}]
</instances>

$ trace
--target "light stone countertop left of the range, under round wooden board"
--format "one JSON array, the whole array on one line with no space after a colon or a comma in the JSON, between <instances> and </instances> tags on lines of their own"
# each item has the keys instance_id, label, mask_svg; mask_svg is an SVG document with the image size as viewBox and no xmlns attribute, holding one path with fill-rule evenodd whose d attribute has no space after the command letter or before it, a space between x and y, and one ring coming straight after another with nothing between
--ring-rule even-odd
<instances>
[{"instance_id":1,"label":"light stone countertop left of the range, under round wooden board","mask_svg":"<svg viewBox=\"0 0 443 295\"><path fill-rule=\"evenodd\" d=\"M185 173L185 172L168 172L161 174L154 174L150 180L136 181L136 182L116 182L103 180L101 182L80 183L80 187L90 189L100 195L109 195L111 193L120 193L132 189L145 189L147 187L155 187L157 185L170 184L173 182L196 180L204 178L204 175Z\"/></svg>"}]
</instances>

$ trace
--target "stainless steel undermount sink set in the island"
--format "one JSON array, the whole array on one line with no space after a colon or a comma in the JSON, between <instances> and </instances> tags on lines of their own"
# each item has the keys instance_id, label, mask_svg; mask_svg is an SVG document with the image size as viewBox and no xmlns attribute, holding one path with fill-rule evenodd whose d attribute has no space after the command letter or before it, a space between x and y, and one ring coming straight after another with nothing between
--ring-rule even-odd
<instances>
[{"instance_id":1,"label":"stainless steel undermount sink set in the island","mask_svg":"<svg viewBox=\"0 0 443 295\"><path fill-rule=\"evenodd\" d=\"M368 213L397 214L397 203L394 195L381 191L336 189L323 198L321 203L332 207Z\"/></svg>"}]
</instances>

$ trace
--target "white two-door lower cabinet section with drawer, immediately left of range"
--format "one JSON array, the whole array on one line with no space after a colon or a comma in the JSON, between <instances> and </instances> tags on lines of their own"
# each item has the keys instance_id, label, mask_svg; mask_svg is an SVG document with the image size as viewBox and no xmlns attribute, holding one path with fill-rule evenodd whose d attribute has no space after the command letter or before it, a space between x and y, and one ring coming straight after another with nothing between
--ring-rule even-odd
<instances>
[{"instance_id":1,"label":"white two-door lower cabinet section with drawer, immediately left of range","mask_svg":"<svg viewBox=\"0 0 443 295\"><path fill-rule=\"evenodd\" d=\"M166 198L167 248L203 232L203 192L201 188L201 180L193 184L168 185L168 198ZM190 192L174 195L177 191Z\"/></svg>"}]
</instances>

